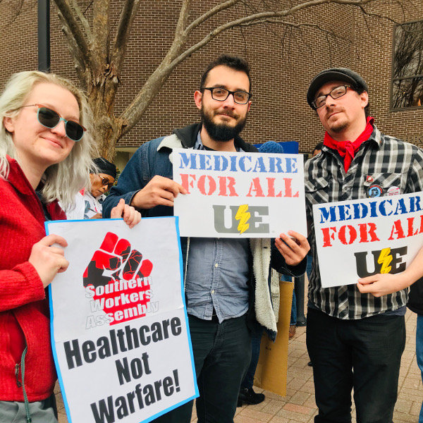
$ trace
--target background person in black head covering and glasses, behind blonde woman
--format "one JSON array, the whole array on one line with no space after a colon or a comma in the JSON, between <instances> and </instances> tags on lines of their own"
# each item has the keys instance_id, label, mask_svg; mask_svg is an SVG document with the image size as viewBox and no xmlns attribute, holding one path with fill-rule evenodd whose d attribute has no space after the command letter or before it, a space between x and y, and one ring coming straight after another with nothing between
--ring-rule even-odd
<instances>
[{"instance_id":1,"label":"background person in black head covering and glasses, behind blonde woman","mask_svg":"<svg viewBox=\"0 0 423 423\"><path fill-rule=\"evenodd\" d=\"M103 157L92 161L97 172L90 173L90 189L83 188L75 195L74 207L66 212L68 220L102 219L102 204L114 185L116 166Z\"/></svg>"}]
</instances>

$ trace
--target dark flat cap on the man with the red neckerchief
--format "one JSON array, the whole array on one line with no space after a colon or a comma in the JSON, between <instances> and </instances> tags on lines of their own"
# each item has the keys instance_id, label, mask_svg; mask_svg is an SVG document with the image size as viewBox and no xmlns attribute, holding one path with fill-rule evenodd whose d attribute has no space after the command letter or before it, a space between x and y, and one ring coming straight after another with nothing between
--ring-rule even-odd
<instances>
[{"instance_id":1,"label":"dark flat cap on the man with the red neckerchief","mask_svg":"<svg viewBox=\"0 0 423 423\"><path fill-rule=\"evenodd\" d=\"M348 68L330 68L326 69L325 71L321 71L318 73L310 82L309 89L307 90L307 103L312 109L315 109L312 105L314 102L314 96L316 95L317 90L326 84L326 82L331 81L345 81L353 85L353 88L357 91L369 92L369 87L367 87L366 81Z\"/></svg>"}]
</instances>

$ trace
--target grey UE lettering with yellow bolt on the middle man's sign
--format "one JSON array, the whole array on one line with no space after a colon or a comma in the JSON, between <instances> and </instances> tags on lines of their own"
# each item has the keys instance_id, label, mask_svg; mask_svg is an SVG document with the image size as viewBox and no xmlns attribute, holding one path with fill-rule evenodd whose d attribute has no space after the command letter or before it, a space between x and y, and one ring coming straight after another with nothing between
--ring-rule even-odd
<instances>
[{"instance_id":1,"label":"grey UE lettering with yellow bolt on the middle man's sign","mask_svg":"<svg viewBox=\"0 0 423 423\"><path fill-rule=\"evenodd\" d=\"M263 222L263 216L269 216L269 207L249 206L213 206L214 228L219 233L269 233L269 223Z\"/></svg>"}]
</instances>

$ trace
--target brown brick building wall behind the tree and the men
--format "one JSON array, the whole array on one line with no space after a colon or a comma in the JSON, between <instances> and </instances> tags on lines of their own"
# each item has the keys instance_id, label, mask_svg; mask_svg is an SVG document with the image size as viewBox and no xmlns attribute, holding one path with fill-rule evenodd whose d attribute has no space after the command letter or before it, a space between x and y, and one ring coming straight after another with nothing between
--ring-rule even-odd
<instances>
[{"instance_id":1,"label":"brown brick building wall behind the tree and the men","mask_svg":"<svg viewBox=\"0 0 423 423\"><path fill-rule=\"evenodd\" d=\"M300 2L298 0L298 2ZM51 3L53 3L51 1ZM90 1L80 1L90 16ZM417 2L407 9L406 21L423 19L423 6ZM27 0L13 19L11 0L0 2L3 36L0 39L0 85L11 73L37 67L37 2ZM123 1L113 1L111 25L118 21ZM200 16L214 1L195 4L191 18ZM374 13L402 19L402 10L394 2L376 1ZM122 111L160 63L171 44L178 16L178 2L146 0L140 6L118 92L116 112ZM191 43L201 39L219 25L215 18L207 27L195 32ZM351 6L319 6L288 18L296 27L266 25L235 29L223 33L207 47L193 54L176 68L161 92L133 130L118 145L137 147L142 142L171 133L198 120L193 102L202 71L209 61L223 52L239 54L252 66L252 109L243 137L249 142L266 140L300 142L300 151L310 152L322 140L323 129L309 109L305 94L309 81L324 68L351 67L362 74L369 85L372 115L379 128L398 137L423 141L423 109L389 110L391 90L391 52L393 23L375 17L364 20ZM315 25L326 28L321 32ZM314 25L314 26L312 26ZM331 32L336 32L334 38ZM76 82L61 23L51 5L51 71Z\"/></svg>"}]
</instances>

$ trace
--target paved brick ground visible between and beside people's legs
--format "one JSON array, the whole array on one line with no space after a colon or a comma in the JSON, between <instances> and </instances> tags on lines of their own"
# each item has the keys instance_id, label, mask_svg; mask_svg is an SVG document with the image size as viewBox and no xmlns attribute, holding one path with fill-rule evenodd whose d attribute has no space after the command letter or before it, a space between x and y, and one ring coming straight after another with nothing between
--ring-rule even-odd
<instances>
[{"instance_id":1,"label":"paved brick ground visible between and beside people's legs","mask_svg":"<svg viewBox=\"0 0 423 423\"><path fill-rule=\"evenodd\" d=\"M401 361L398 383L398 401L393 421L395 423L417 423L423 400L423 386L415 355L416 314L407 310L405 316L407 342ZM307 366L309 357L305 346L305 327L298 327L289 343L288 386L286 396L263 391L266 399L258 405L245 405L238 408L235 423L308 423L317 414L314 403L312 367ZM278 335L281 336L281 333ZM286 334L288 336L288 333ZM257 392L262 390L255 388ZM59 408L59 423L68 423L63 407L59 385L56 386L56 399ZM197 422L195 411L192 422ZM353 419L355 422L355 419ZM74 422L83 423L83 422Z\"/></svg>"}]
</instances>

